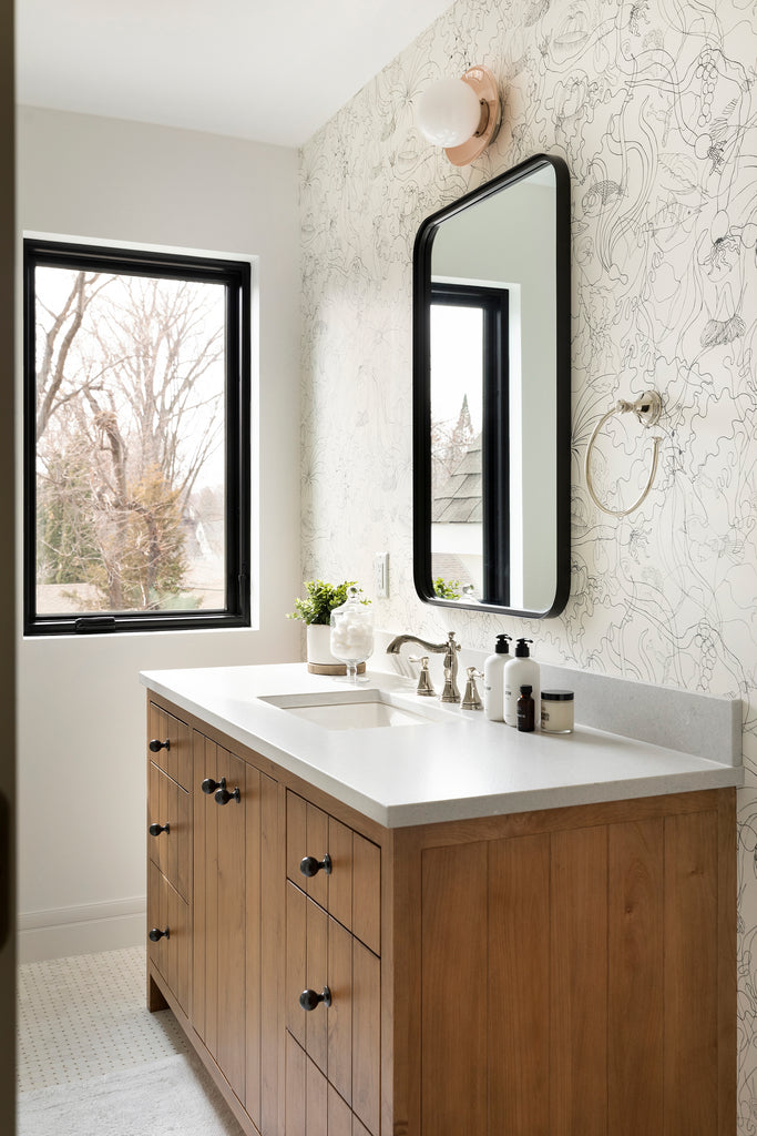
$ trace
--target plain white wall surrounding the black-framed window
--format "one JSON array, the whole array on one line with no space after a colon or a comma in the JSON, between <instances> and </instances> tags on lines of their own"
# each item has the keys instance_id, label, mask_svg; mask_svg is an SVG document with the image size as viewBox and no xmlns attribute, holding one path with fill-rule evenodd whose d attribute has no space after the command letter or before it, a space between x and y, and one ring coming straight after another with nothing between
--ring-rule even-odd
<instances>
[{"instance_id":1,"label":"plain white wall surrounding the black-framed window","mask_svg":"<svg viewBox=\"0 0 757 1136\"><path fill-rule=\"evenodd\" d=\"M18 908L31 959L143 939L138 671L300 658L284 618L301 590L297 153L22 108L18 228L253 254L260 281L259 629L19 642ZM17 468L20 501L20 453Z\"/></svg>"}]
</instances>

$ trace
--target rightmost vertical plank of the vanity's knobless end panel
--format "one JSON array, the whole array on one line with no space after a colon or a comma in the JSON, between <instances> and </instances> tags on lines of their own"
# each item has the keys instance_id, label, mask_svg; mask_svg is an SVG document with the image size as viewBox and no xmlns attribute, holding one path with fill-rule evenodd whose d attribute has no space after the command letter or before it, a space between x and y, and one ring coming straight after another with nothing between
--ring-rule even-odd
<instances>
[{"instance_id":1,"label":"rightmost vertical plank of the vanity's knobless end panel","mask_svg":"<svg viewBox=\"0 0 757 1136\"><path fill-rule=\"evenodd\" d=\"M717 1131L717 813L665 820L664 1136Z\"/></svg>"}]
</instances>

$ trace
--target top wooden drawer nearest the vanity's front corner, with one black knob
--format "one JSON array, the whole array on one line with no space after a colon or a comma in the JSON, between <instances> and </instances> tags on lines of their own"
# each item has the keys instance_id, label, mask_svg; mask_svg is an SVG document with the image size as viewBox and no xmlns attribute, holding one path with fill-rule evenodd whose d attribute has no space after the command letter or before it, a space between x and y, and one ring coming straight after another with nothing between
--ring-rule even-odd
<instances>
[{"instance_id":1,"label":"top wooden drawer nearest the vanity's front corner, with one black knob","mask_svg":"<svg viewBox=\"0 0 757 1136\"><path fill-rule=\"evenodd\" d=\"M380 954L381 850L296 793L286 818L287 877Z\"/></svg>"}]
</instances>

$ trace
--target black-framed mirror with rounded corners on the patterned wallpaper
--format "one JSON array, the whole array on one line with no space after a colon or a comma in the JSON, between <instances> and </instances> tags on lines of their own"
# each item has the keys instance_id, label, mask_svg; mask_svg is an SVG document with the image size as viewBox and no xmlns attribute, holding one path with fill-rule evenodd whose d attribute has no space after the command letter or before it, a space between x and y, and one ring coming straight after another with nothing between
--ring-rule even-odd
<instances>
[{"instance_id":1,"label":"black-framed mirror with rounded corners on the patterned wallpaper","mask_svg":"<svg viewBox=\"0 0 757 1136\"><path fill-rule=\"evenodd\" d=\"M428 603L545 618L570 591L570 177L537 154L413 254L413 537Z\"/></svg>"}]
</instances>

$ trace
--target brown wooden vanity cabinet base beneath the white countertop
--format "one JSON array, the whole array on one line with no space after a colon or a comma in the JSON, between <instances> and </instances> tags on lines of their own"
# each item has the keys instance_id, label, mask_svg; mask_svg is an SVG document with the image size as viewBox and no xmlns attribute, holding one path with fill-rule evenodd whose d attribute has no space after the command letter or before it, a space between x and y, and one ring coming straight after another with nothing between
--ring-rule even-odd
<instances>
[{"instance_id":1,"label":"brown wooden vanity cabinet base beneath the white countertop","mask_svg":"<svg viewBox=\"0 0 757 1136\"><path fill-rule=\"evenodd\" d=\"M734 790L386 829L185 717L149 1003L245 1133L733 1136Z\"/></svg>"}]
</instances>

